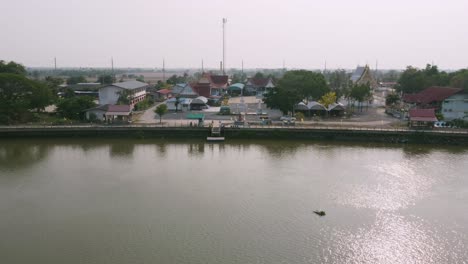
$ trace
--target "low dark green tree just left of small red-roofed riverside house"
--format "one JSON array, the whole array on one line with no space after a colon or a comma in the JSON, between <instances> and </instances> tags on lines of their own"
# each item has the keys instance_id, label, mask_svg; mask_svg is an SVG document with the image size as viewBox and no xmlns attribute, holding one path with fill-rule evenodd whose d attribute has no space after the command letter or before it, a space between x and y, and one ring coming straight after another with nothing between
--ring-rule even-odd
<instances>
[{"instance_id":1,"label":"low dark green tree just left of small red-roofed riverside house","mask_svg":"<svg viewBox=\"0 0 468 264\"><path fill-rule=\"evenodd\" d=\"M68 119L84 120L84 111L95 106L94 98L89 96L64 98L57 103L57 113Z\"/></svg>"}]
</instances>

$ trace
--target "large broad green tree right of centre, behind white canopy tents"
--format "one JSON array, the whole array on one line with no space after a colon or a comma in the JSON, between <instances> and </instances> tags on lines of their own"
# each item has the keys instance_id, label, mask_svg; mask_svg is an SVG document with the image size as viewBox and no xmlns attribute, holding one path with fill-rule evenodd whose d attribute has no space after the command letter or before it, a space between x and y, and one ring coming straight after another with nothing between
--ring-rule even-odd
<instances>
[{"instance_id":1,"label":"large broad green tree right of centre, behind white canopy tents","mask_svg":"<svg viewBox=\"0 0 468 264\"><path fill-rule=\"evenodd\" d=\"M298 102L304 99L318 100L329 91L330 88L321 73L288 71L278 81L278 85L265 95L263 101L268 107L287 114Z\"/></svg>"}]
</instances>

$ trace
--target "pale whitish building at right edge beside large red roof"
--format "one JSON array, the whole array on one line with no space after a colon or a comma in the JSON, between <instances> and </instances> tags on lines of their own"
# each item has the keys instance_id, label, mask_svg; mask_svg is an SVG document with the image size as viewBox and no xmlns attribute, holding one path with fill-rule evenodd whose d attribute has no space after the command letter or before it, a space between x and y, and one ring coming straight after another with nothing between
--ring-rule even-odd
<instances>
[{"instance_id":1,"label":"pale whitish building at right edge beside large red roof","mask_svg":"<svg viewBox=\"0 0 468 264\"><path fill-rule=\"evenodd\" d=\"M468 121L468 94L457 93L442 102L441 113L444 120L464 119Z\"/></svg>"}]
</instances>

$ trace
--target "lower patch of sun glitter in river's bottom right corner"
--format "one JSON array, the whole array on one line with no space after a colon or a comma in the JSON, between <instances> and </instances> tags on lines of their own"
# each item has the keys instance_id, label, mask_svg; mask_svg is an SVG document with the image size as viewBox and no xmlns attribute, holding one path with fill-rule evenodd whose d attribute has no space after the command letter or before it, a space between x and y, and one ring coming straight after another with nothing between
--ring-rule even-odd
<instances>
[{"instance_id":1,"label":"lower patch of sun glitter in river's bottom right corner","mask_svg":"<svg viewBox=\"0 0 468 264\"><path fill-rule=\"evenodd\" d=\"M322 260L325 263L465 263L468 254L464 235L444 230L418 217L379 212L375 223L357 232L323 230L331 233L333 245L323 250Z\"/></svg>"}]
</instances>

